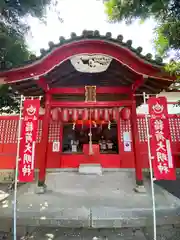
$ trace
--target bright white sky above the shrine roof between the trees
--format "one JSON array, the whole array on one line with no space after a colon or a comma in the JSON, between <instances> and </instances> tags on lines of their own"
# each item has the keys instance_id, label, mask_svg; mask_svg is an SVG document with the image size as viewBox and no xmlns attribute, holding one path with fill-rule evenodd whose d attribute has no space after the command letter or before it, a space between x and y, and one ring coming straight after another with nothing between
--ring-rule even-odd
<instances>
[{"instance_id":1,"label":"bright white sky above the shrine roof between the trees","mask_svg":"<svg viewBox=\"0 0 180 240\"><path fill-rule=\"evenodd\" d=\"M59 21L58 14L63 19ZM143 47L143 54L152 53L153 30L155 22L148 20L144 24L135 21L127 26L125 23L108 22L102 0L59 0L54 9L47 10L47 24L38 19L28 17L31 33L27 36L29 48L39 55L41 48L48 48L48 42L58 43L59 37L69 38L71 32L80 35L83 30L99 30L101 34L111 32L113 37L121 34L124 41L131 39L132 46Z\"/></svg>"}]
</instances>

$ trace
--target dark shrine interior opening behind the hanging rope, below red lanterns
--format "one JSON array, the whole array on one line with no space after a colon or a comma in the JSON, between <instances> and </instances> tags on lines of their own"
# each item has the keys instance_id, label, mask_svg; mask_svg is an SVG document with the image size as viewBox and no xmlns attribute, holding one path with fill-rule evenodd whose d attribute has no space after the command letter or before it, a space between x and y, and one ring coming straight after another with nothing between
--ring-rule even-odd
<instances>
[{"instance_id":1,"label":"dark shrine interior opening behind the hanging rope, below red lanterns","mask_svg":"<svg viewBox=\"0 0 180 240\"><path fill-rule=\"evenodd\" d=\"M91 129L90 129L91 128ZM83 154L86 145L89 145L92 133L92 144L99 146L102 154L118 154L118 136L116 122L102 122L91 126L75 123L63 124L63 153Z\"/></svg>"}]
</instances>

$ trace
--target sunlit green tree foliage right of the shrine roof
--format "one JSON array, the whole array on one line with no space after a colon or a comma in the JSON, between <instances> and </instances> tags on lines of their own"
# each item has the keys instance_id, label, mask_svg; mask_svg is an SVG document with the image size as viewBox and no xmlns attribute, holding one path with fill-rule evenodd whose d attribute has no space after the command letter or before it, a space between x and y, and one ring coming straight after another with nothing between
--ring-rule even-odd
<instances>
[{"instance_id":1,"label":"sunlit green tree foliage right of the shrine roof","mask_svg":"<svg viewBox=\"0 0 180 240\"><path fill-rule=\"evenodd\" d=\"M109 20L125 20L131 24L139 19L142 23L153 18L157 27L154 29L154 47L163 58L173 54L173 61L165 69L179 76L180 70L180 1L179 0L109 0L105 3ZM179 81L179 77L177 79Z\"/></svg>"}]
</instances>

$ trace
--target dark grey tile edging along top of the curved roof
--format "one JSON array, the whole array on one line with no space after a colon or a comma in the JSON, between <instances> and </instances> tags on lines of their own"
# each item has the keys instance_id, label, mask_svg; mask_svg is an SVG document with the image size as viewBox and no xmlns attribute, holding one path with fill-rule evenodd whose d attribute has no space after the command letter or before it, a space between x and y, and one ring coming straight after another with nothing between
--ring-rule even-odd
<instances>
[{"instance_id":1,"label":"dark grey tile edging along top of the curved roof","mask_svg":"<svg viewBox=\"0 0 180 240\"><path fill-rule=\"evenodd\" d=\"M159 56L155 56L153 59L153 56L151 53L147 53L146 55L142 54L143 48L141 46L134 48L132 46L132 40L127 40L126 42L123 41L123 35L118 35L117 38L112 38L111 32L107 32L105 35L101 35L98 30L95 31L86 31L84 30L82 32L82 35L77 36L76 33L71 33L71 37L69 39L65 39L64 37L59 38L59 43L55 44L53 42L49 42L49 48L48 49L40 49L40 56L36 56L34 54L31 54L28 61L23 62L19 65L9 65L6 66L4 70L0 71L7 71L12 68L20 68L23 66L30 65L32 63L35 63L36 61L41 60L42 58L46 57L48 54L50 54L54 49L59 48L60 46L63 46L65 44L74 42L74 41L80 41L80 40L104 40L109 43L117 44L123 48L126 48L127 50L130 50L132 53L134 53L138 58L142 59L146 63L149 63L151 65L154 65L156 67L163 67L165 64L163 63L163 59Z\"/></svg>"}]
</instances>

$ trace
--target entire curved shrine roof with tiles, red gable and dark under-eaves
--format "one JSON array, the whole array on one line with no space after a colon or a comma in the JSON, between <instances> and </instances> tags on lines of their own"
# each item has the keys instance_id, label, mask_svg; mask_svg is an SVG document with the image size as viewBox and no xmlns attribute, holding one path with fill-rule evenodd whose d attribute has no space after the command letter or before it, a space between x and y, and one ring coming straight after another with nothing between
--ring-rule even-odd
<instances>
[{"instance_id":1,"label":"entire curved shrine roof with tiles, red gable and dark under-eaves","mask_svg":"<svg viewBox=\"0 0 180 240\"><path fill-rule=\"evenodd\" d=\"M123 42L122 35L115 39L110 32L100 35L97 30L83 31L81 36L72 33L71 38L59 40L58 44L49 42L49 49L41 49L39 57L31 55L21 66L1 70L0 83L8 83L25 96L85 85L128 87L138 94L157 94L167 90L175 79L164 70L162 58L142 55L142 47L133 48L131 40ZM95 58L100 61L96 59L99 66L93 72L90 60ZM78 64L82 64L81 69Z\"/></svg>"}]
</instances>

